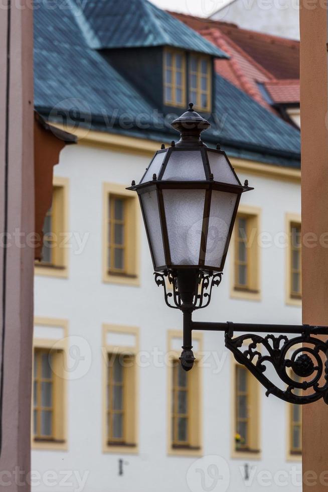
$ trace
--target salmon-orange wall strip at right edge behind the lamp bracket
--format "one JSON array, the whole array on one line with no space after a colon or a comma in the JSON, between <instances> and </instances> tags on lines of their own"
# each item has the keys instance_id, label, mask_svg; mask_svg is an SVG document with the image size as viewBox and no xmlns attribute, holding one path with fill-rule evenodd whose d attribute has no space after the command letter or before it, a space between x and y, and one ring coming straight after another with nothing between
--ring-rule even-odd
<instances>
[{"instance_id":1,"label":"salmon-orange wall strip at right edge behind the lamp bracket","mask_svg":"<svg viewBox=\"0 0 328 492\"><path fill-rule=\"evenodd\" d=\"M328 325L328 133L327 10L319 0L301 0L300 107L302 234L313 233L313 248L302 248L303 323ZM325 233L325 236L322 234ZM325 337L326 338L326 337ZM303 491L328 485L328 406L303 407Z\"/></svg>"}]
</instances>

